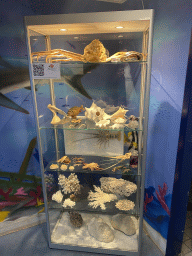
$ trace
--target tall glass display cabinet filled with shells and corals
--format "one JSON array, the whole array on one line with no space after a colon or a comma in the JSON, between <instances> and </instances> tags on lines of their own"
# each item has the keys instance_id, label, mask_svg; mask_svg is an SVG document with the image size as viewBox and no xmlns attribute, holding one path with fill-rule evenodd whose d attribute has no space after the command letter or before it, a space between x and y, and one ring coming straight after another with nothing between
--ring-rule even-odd
<instances>
[{"instance_id":1,"label":"tall glass display cabinet filled with shells and corals","mask_svg":"<svg viewBox=\"0 0 192 256\"><path fill-rule=\"evenodd\" d=\"M139 255L153 10L25 26L49 245Z\"/></svg>"}]
</instances>

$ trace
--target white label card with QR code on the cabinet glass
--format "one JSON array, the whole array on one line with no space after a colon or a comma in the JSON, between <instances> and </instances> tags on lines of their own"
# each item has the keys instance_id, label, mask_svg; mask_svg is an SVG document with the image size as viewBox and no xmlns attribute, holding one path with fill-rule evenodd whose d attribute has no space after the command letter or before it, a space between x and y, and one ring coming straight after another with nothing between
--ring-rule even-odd
<instances>
[{"instance_id":1,"label":"white label card with QR code on the cabinet glass","mask_svg":"<svg viewBox=\"0 0 192 256\"><path fill-rule=\"evenodd\" d=\"M33 79L60 79L60 63L33 63Z\"/></svg>"}]
</instances>

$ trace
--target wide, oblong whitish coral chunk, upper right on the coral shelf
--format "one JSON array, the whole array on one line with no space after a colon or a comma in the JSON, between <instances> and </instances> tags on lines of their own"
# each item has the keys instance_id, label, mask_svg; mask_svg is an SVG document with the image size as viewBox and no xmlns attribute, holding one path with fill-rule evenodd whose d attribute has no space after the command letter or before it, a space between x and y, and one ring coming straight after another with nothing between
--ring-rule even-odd
<instances>
[{"instance_id":1,"label":"wide, oblong whitish coral chunk, upper right on the coral shelf","mask_svg":"<svg viewBox=\"0 0 192 256\"><path fill-rule=\"evenodd\" d=\"M101 189L106 193L114 193L121 196L130 196L137 190L137 185L124 179L112 177L100 178Z\"/></svg>"}]
</instances>

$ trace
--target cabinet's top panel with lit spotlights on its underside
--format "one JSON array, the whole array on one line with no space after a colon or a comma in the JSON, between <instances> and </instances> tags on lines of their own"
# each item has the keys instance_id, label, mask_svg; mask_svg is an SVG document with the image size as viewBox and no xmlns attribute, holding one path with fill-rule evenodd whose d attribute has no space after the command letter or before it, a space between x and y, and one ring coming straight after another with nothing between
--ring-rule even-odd
<instances>
[{"instance_id":1,"label":"cabinet's top panel with lit spotlights on its underside","mask_svg":"<svg viewBox=\"0 0 192 256\"><path fill-rule=\"evenodd\" d=\"M25 17L25 24L42 35L143 32L152 16L153 10L41 15Z\"/></svg>"}]
</instances>

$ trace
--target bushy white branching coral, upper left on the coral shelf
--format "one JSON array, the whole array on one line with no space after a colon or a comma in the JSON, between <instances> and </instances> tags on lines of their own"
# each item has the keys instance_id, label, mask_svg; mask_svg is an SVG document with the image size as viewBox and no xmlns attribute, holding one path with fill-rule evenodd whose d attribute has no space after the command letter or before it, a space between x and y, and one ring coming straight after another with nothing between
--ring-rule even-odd
<instances>
[{"instance_id":1,"label":"bushy white branching coral, upper left on the coral shelf","mask_svg":"<svg viewBox=\"0 0 192 256\"><path fill-rule=\"evenodd\" d=\"M64 194L76 194L80 190L79 180L77 178L77 175L75 175L74 173L69 175L68 178L60 174L58 183L62 187L62 191L64 192Z\"/></svg>"}]
</instances>

